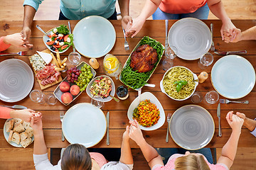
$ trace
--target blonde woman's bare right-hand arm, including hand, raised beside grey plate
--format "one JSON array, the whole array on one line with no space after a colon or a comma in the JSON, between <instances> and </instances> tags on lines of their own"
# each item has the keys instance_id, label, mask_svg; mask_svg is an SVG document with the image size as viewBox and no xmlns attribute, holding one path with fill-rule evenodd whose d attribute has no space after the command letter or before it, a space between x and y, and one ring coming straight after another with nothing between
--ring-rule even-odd
<instances>
[{"instance_id":1,"label":"blonde woman's bare right-hand arm, including hand, raised beside grey plate","mask_svg":"<svg viewBox=\"0 0 256 170\"><path fill-rule=\"evenodd\" d=\"M244 122L244 120L242 118L239 118L238 115L233 115L233 111L228 112L228 114L226 115L226 120L232 128L232 132L230 138L228 139L228 142L223 146L221 156L218 159L217 164L225 164L230 169L238 149L238 141L241 134L242 123Z\"/></svg>"}]
</instances>

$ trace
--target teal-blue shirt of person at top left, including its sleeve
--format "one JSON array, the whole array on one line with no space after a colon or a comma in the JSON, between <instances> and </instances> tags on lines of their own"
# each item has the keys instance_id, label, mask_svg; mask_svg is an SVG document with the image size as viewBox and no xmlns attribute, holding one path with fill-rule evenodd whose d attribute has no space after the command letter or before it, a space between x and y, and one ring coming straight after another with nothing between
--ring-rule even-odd
<instances>
[{"instance_id":1,"label":"teal-blue shirt of person at top left, including its sleeve","mask_svg":"<svg viewBox=\"0 0 256 170\"><path fill-rule=\"evenodd\" d=\"M43 0L25 0L28 5L38 10ZM115 11L116 0L60 0L60 11L70 20L80 20L86 16L109 18Z\"/></svg>"}]
</instances>

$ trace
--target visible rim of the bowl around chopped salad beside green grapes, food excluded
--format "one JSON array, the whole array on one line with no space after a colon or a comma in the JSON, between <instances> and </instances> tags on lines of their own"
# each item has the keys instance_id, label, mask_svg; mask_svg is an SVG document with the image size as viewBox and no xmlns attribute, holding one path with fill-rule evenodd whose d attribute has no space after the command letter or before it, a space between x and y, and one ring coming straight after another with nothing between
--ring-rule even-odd
<instances>
[{"instance_id":1,"label":"visible rim of the bowl around chopped salad beside green grapes, food excluded","mask_svg":"<svg viewBox=\"0 0 256 170\"><path fill-rule=\"evenodd\" d=\"M115 91L115 86L114 86L114 81L108 77L107 75L102 75L102 76L98 76L98 77L95 77L94 79L92 79L90 81L90 83L88 84L88 86L86 87L86 93L87 95L90 97L90 98L93 98L95 101L102 101L102 102L108 102L108 101L111 101L112 100L112 97L111 96L107 96L107 98L101 98L101 97L93 97L91 92L90 92L90 86L92 86L92 83L95 81L95 79L97 78L100 78L100 77L107 77L108 79L110 79L111 81L111 91L110 91L110 95L111 96L114 96L114 91Z\"/></svg>"}]
</instances>

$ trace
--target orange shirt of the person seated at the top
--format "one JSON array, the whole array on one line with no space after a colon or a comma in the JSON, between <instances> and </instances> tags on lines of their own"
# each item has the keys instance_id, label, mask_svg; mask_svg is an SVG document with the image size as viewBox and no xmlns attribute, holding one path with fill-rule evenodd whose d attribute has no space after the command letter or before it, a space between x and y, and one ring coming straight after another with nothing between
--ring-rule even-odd
<instances>
[{"instance_id":1,"label":"orange shirt of the person seated at the top","mask_svg":"<svg viewBox=\"0 0 256 170\"><path fill-rule=\"evenodd\" d=\"M162 0L159 8L166 13L193 13L207 0Z\"/></svg>"}]
</instances>

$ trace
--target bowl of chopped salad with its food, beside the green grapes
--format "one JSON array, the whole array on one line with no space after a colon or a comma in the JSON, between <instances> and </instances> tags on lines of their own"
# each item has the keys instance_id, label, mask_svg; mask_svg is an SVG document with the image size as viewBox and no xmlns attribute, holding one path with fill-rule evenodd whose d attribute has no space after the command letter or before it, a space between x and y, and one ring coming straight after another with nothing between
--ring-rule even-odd
<instances>
[{"instance_id":1,"label":"bowl of chopped salad with its food, beside the green grapes","mask_svg":"<svg viewBox=\"0 0 256 170\"><path fill-rule=\"evenodd\" d=\"M95 77L86 88L86 93L90 98L102 102L111 101L114 91L114 81L107 75Z\"/></svg>"}]
</instances>

